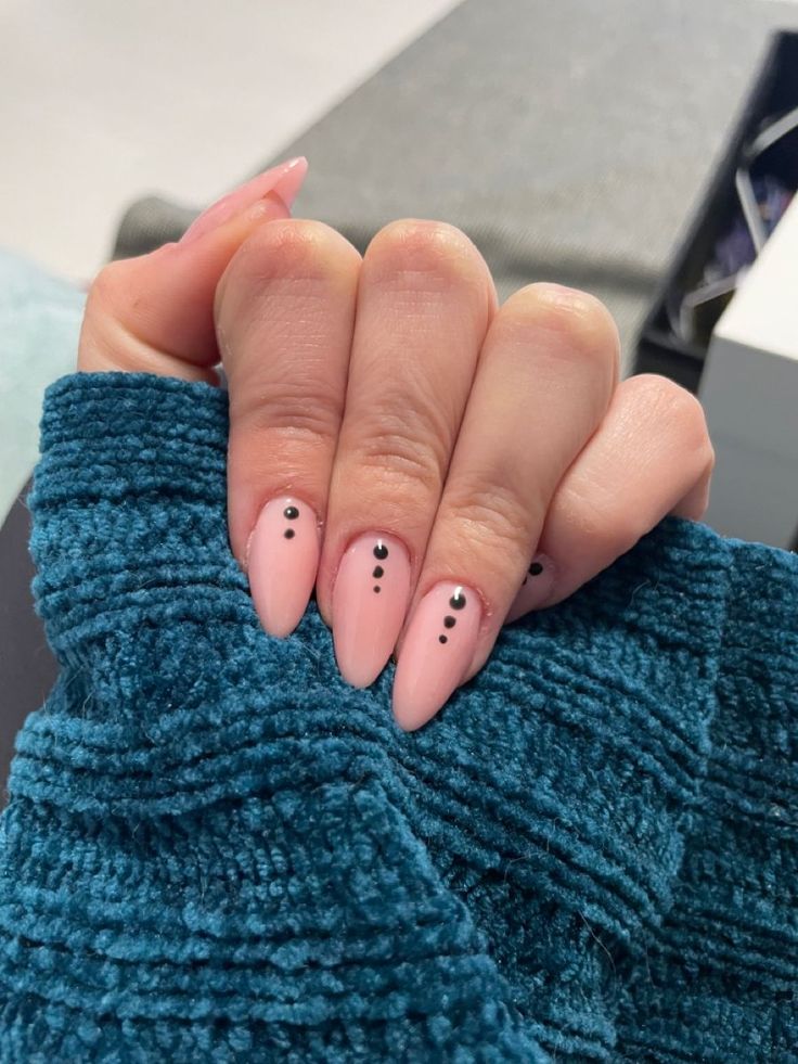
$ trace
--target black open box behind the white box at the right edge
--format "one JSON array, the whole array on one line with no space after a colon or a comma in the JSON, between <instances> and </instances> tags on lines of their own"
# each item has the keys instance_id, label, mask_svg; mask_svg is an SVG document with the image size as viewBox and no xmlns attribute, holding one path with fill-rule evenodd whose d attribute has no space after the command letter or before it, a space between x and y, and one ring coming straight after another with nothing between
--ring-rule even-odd
<instances>
[{"instance_id":1,"label":"black open box behind the white box at the right edge","mask_svg":"<svg viewBox=\"0 0 798 1064\"><path fill-rule=\"evenodd\" d=\"M745 100L718 168L706 188L681 246L662 280L640 332L634 373L660 373L693 393L698 392L707 355L704 343L683 339L671 325L673 308L702 281L716 244L741 213L735 185L745 146L763 120L798 107L798 34L773 35L764 62ZM776 155L774 145L770 152ZM770 157L770 156L769 156ZM798 153L776 158L780 176L798 189Z\"/></svg>"}]
</instances>

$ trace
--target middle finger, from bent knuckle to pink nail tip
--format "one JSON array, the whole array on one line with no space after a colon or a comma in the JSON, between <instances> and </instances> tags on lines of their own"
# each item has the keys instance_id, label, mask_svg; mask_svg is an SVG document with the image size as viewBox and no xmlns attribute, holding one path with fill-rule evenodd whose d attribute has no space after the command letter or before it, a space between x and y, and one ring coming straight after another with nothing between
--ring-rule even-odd
<instances>
[{"instance_id":1,"label":"middle finger, from bent knuckle to pink nail tip","mask_svg":"<svg viewBox=\"0 0 798 1064\"><path fill-rule=\"evenodd\" d=\"M317 582L357 687L396 643L494 308L485 260L452 226L403 219L366 249Z\"/></svg>"}]
</instances>

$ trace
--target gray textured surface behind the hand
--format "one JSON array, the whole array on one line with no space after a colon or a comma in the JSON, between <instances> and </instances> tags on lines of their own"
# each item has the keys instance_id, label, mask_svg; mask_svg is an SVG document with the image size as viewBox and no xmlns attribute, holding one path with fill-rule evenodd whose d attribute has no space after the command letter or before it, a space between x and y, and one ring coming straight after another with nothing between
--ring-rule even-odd
<instances>
[{"instance_id":1,"label":"gray textured surface behind the hand","mask_svg":"<svg viewBox=\"0 0 798 1064\"><path fill-rule=\"evenodd\" d=\"M392 218L440 218L472 236L502 298L535 280L588 289L618 321L628 370L776 27L798 28L798 8L466 0L265 166L307 155L295 214L361 249ZM190 217L143 203L117 254Z\"/></svg>"}]
</instances>

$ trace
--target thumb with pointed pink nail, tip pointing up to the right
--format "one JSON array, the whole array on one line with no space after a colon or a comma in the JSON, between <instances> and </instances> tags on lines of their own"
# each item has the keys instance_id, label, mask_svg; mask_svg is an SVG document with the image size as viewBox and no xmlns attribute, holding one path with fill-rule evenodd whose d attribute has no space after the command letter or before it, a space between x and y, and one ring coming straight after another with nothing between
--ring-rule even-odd
<instances>
[{"instance_id":1,"label":"thumb with pointed pink nail, tip pointing up to the right","mask_svg":"<svg viewBox=\"0 0 798 1064\"><path fill-rule=\"evenodd\" d=\"M304 158L273 167L201 215L179 243L105 266L89 290L78 369L216 383L216 285L242 241L288 217L306 172Z\"/></svg>"}]
</instances>

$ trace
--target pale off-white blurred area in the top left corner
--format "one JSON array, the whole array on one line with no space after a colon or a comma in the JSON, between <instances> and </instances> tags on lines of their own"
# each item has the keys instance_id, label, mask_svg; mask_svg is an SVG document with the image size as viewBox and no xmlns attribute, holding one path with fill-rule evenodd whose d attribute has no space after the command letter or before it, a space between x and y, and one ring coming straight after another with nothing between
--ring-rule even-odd
<instances>
[{"instance_id":1,"label":"pale off-white blurred area in the top left corner","mask_svg":"<svg viewBox=\"0 0 798 1064\"><path fill-rule=\"evenodd\" d=\"M132 198L210 202L454 7L2 0L0 242L93 277Z\"/></svg>"}]
</instances>

